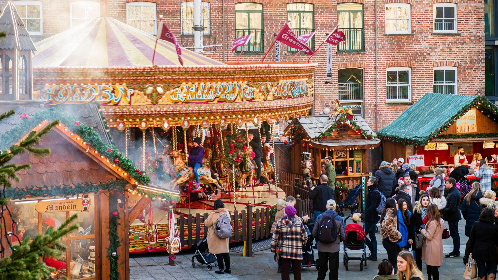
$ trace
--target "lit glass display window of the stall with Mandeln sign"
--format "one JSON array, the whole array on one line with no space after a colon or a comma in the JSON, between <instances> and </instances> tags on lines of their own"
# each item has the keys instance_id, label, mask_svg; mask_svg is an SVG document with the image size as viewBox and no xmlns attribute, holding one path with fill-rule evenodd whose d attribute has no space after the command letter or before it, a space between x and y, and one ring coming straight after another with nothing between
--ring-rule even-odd
<instances>
[{"instance_id":1,"label":"lit glass display window of the stall with Mandeln sign","mask_svg":"<svg viewBox=\"0 0 498 280\"><path fill-rule=\"evenodd\" d=\"M78 197L31 199L14 201L11 204L12 217L17 225L12 232L17 235L11 237L13 245L18 245L19 239L33 238L37 234L44 234L50 227L57 230L71 215L78 214L74 223L79 227L62 239L67 251L57 260L45 258L43 261L49 267L56 269L51 280L67 277L72 279L96 278L96 250L95 242L95 199L92 194L83 194ZM69 260L69 262L68 262Z\"/></svg>"}]
</instances>

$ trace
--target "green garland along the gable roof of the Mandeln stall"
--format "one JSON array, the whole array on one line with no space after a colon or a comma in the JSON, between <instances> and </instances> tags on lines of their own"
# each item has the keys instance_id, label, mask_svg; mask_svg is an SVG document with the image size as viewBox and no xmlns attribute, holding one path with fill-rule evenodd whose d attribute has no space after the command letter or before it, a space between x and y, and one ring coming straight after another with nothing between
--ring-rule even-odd
<instances>
[{"instance_id":1,"label":"green garland along the gable roof of the Mandeln stall","mask_svg":"<svg viewBox=\"0 0 498 280\"><path fill-rule=\"evenodd\" d=\"M49 108L48 110L38 112L29 119L24 118L24 120L19 125L13 127L9 131L1 135L0 150L8 149L11 144L19 141L41 122L45 120L55 119L58 119L60 123L68 127L69 130L73 133L79 135L82 140L99 151L100 154L103 154L104 156L109 158L109 160L114 161L115 159L118 159L116 165L118 165L121 169L128 173L138 183L144 185L150 183L150 178L144 174L145 172L143 172L142 174L138 173L138 169L136 169L133 165L133 161L119 152L114 144L108 145L104 143L99 134L97 134L93 130L93 128L88 127L83 123L77 122L77 119L69 116L68 113L56 108ZM80 125L78 126L77 124Z\"/></svg>"}]
</instances>

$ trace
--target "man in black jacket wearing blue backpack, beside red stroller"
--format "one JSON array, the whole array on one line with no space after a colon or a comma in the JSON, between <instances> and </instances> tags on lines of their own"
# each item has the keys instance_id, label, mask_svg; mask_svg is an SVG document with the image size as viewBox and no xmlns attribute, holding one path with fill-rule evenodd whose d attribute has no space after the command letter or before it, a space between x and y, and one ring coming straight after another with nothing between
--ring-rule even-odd
<instances>
[{"instance_id":1,"label":"man in black jacket wearing blue backpack, beside red stroller","mask_svg":"<svg viewBox=\"0 0 498 280\"><path fill-rule=\"evenodd\" d=\"M365 243L370 249L370 256L367 257L369 261L377 260L377 239L375 238L375 226L378 223L380 211L382 207L382 201L385 205L385 196L378 190L377 187L378 179L376 177L370 177L367 181L367 201L365 203L365 211L363 211L361 220L365 223L365 233L369 235L370 239L365 238Z\"/></svg>"}]
</instances>

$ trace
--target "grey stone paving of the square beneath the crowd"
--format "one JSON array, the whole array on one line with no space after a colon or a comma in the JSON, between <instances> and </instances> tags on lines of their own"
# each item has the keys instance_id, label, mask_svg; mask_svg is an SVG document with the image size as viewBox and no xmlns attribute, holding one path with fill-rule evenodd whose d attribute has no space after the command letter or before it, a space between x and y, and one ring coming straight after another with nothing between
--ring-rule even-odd
<instances>
[{"instance_id":1,"label":"grey stone paving of the square beneath the crowd","mask_svg":"<svg viewBox=\"0 0 498 280\"><path fill-rule=\"evenodd\" d=\"M439 268L441 280L461 280L465 266L463 265L462 256L464 255L465 244L467 237L465 236L465 220L460 221L459 232L461 238L461 253L457 259L443 259L443 265ZM453 250L452 239L443 240L443 248L445 255ZM380 234L377 234L377 245L379 258L377 262L367 262L367 266L363 271L360 271L359 261L349 262L349 271L346 271L343 265L342 250L340 253L341 260L339 265L340 280L371 280L377 271L378 263L387 258ZM367 249L368 251L368 249ZM206 265L198 266L196 262L195 268L192 268L191 258L194 252L187 250L182 251L177 255L176 266L168 265L167 254L153 253L150 255L131 255L130 258L130 280L223 280L223 279L238 279L238 280L279 280L280 274L277 274L277 264L273 261L273 254L269 250L253 254L254 258L242 257L240 254L231 253L232 275L217 275L214 273L217 268L208 271ZM315 254L317 257L318 254ZM425 274L425 264L423 265L423 273ZM318 273L315 268L306 268L302 270L303 279L315 279ZM292 279L292 278L291 278Z\"/></svg>"}]
</instances>

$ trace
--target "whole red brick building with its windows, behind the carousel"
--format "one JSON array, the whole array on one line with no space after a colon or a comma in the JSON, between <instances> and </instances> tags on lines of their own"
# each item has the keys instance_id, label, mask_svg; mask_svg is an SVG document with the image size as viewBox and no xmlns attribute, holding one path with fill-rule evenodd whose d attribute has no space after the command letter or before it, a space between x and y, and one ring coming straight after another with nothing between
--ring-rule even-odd
<instances>
[{"instance_id":1,"label":"whole red brick building with its windows, behind the carousel","mask_svg":"<svg viewBox=\"0 0 498 280\"><path fill-rule=\"evenodd\" d=\"M5 2L0 0L0 5ZM182 46L194 44L193 1L12 2L26 20L33 41L106 14L154 33L162 14ZM296 33L319 28L309 43L312 48L339 23L348 39L332 46L330 77L327 44L311 59L318 63L314 113L326 104L331 107L331 101L338 98L362 113L374 131L425 93L485 93L483 1L203 0L202 13L205 54L224 62L237 59L238 53L231 52L236 34L254 31L241 62L258 62L288 19ZM289 62L294 55L286 46L280 47L280 61ZM307 58L299 55L297 61ZM266 60L275 61L275 49Z\"/></svg>"}]
</instances>

